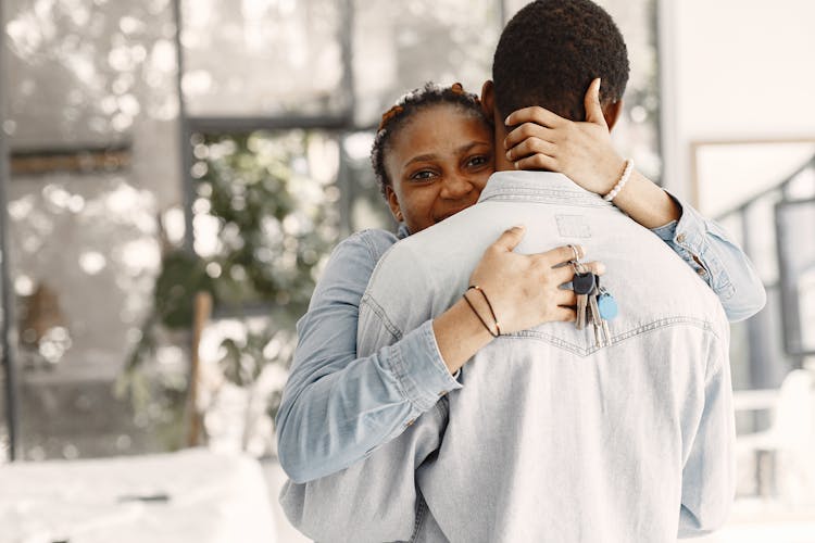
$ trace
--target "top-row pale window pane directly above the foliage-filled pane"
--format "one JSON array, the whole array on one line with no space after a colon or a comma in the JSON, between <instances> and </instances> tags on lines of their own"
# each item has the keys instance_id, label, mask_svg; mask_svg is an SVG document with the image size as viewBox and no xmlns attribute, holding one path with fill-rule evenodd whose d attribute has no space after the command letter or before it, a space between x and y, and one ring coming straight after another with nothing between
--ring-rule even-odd
<instances>
[{"instance_id":1,"label":"top-row pale window pane directly above the foliage-filled pane","mask_svg":"<svg viewBox=\"0 0 815 543\"><path fill-rule=\"evenodd\" d=\"M342 3L184 1L183 87L190 114L343 112Z\"/></svg>"}]
</instances>

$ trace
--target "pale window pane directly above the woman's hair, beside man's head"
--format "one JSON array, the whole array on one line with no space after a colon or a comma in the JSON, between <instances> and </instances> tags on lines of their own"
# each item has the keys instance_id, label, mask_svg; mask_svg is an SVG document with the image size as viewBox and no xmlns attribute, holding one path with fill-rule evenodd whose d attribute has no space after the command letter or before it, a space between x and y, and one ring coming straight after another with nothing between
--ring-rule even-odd
<instances>
[{"instance_id":1,"label":"pale window pane directly above the woman's hair, beside man's head","mask_svg":"<svg viewBox=\"0 0 815 543\"><path fill-rule=\"evenodd\" d=\"M501 30L498 2L356 0L356 122L376 125L397 98L425 81L480 93Z\"/></svg>"}]
</instances>

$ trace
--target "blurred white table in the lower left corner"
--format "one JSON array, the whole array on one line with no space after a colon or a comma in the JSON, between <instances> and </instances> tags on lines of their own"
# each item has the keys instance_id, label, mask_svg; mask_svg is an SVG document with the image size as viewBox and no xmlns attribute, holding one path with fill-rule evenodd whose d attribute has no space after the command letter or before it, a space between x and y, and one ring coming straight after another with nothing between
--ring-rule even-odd
<instances>
[{"instance_id":1,"label":"blurred white table in the lower left corner","mask_svg":"<svg viewBox=\"0 0 815 543\"><path fill-rule=\"evenodd\" d=\"M0 543L273 543L253 458L174 454L0 466Z\"/></svg>"}]
</instances>

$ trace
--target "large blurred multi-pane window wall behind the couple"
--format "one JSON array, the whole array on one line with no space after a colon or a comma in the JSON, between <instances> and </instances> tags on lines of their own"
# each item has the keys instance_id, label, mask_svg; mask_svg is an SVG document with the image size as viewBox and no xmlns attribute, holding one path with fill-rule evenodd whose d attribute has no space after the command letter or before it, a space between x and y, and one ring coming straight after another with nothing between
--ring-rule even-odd
<instances>
[{"instance_id":1,"label":"large blurred multi-pane window wall behind the couple","mask_svg":"<svg viewBox=\"0 0 815 543\"><path fill-rule=\"evenodd\" d=\"M216 369L274 397L331 248L396 227L380 114L427 80L479 92L513 3L5 2L24 456L184 445L199 290L214 328L242 327ZM603 3L632 56L618 140L657 179L655 2Z\"/></svg>"}]
</instances>

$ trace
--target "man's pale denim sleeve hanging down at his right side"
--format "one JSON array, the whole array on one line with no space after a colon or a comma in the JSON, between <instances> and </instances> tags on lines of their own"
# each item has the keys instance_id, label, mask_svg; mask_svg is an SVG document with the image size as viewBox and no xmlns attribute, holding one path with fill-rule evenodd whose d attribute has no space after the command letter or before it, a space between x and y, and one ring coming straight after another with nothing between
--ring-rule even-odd
<instances>
[{"instance_id":1,"label":"man's pale denim sleeve hanging down at his right side","mask_svg":"<svg viewBox=\"0 0 815 543\"><path fill-rule=\"evenodd\" d=\"M722 527L736 493L729 341L727 330L720 333L725 340L713 341L714 353L705 376L704 409L682 469L679 538L704 535Z\"/></svg>"}]
</instances>

